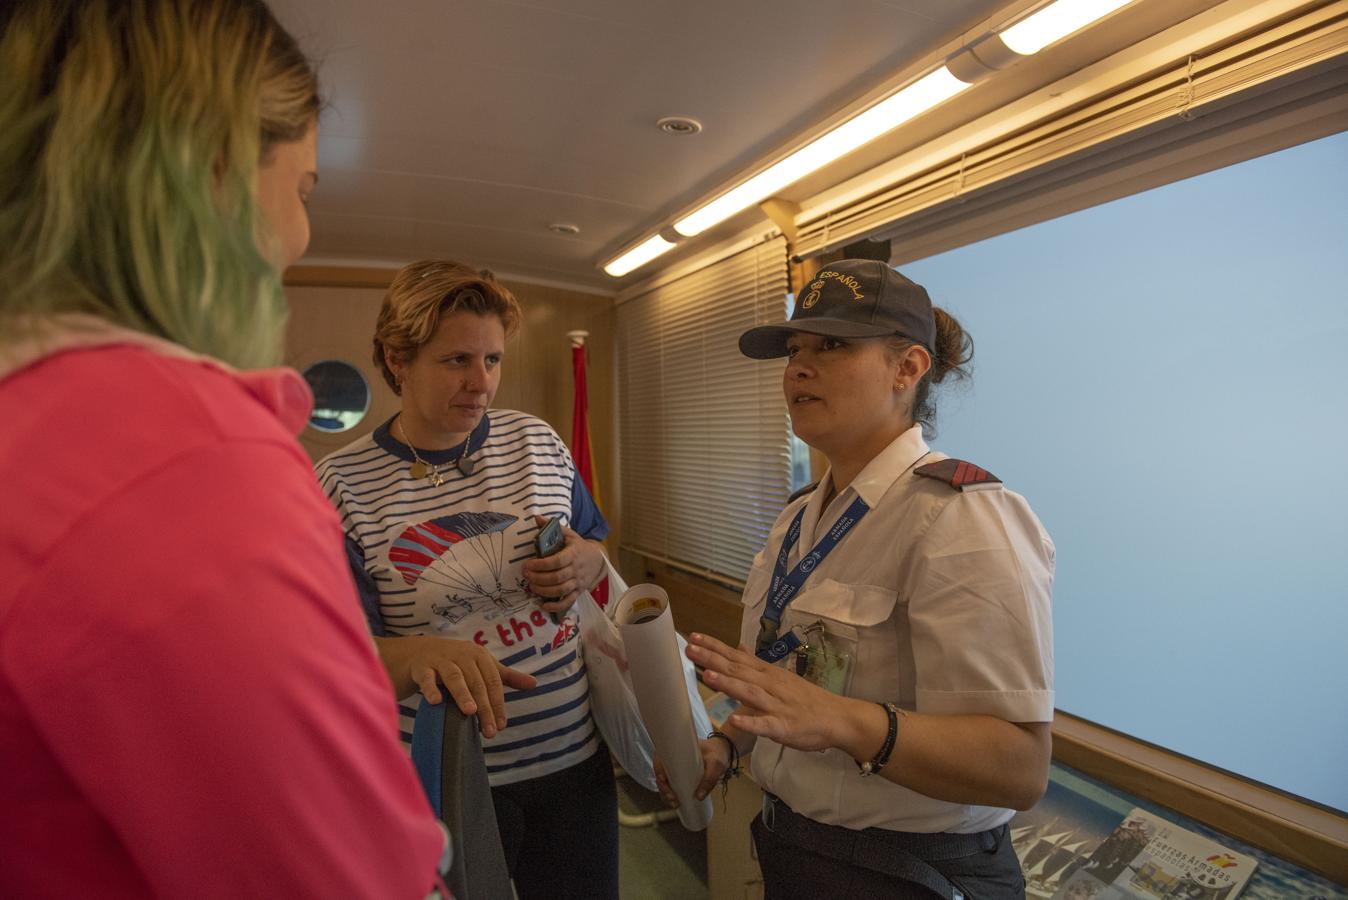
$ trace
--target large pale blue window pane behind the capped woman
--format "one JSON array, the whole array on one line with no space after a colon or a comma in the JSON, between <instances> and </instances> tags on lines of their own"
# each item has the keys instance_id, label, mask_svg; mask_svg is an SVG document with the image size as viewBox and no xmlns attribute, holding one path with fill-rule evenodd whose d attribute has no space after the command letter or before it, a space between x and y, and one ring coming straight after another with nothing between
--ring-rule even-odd
<instances>
[{"instance_id":1,"label":"large pale blue window pane behind the capped woman","mask_svg":"<svg viewBox=\"0 0 1348 900\"><path fill-rule=\"evenodd\" d=\"M1348 810L1348 133L902 265L1058 547L1058 707Z\"/></svg>"}]
</instances>

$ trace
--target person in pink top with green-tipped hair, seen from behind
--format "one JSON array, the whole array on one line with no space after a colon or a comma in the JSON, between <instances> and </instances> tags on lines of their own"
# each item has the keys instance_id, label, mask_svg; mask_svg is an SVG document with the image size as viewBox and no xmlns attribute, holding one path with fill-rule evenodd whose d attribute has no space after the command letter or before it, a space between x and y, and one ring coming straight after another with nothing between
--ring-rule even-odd
<instances>
[{"instance_id":1,"label":"person in pink top with green-tipped hair, seen from behind","mask_svg":"<svg viewBox=\"0 0 1348 900\"><path fill-rule=\"evenodd\" d=\"M0 896L427 896L311 397L256 368L311 67L257 0L12 0L0 84Z\"/></svg>"}]
</instances>

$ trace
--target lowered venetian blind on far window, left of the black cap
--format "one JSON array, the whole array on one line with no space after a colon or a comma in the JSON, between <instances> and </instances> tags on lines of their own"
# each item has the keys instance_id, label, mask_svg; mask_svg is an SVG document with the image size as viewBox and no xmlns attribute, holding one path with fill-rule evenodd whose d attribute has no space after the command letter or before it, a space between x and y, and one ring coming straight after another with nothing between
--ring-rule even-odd
<instances>
[{"instance_id":1,"label":"lowered venetian blind on far window, left of the black cap","mask_svg":"<svg viewBox=\"0 0 1348 900\"><path fill-rule=\"evenodd\" d=\"M743 582L790 493L782 365L739 335L787 311L774 238L617 307L623 546Z\"/></svg>"}]
</instances>

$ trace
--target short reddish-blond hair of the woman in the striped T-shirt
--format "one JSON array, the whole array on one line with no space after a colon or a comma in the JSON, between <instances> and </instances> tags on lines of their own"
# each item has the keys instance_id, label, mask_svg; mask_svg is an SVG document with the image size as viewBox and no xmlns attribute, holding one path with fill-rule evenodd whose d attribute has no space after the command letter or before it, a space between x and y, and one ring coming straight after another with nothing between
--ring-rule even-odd
<instances>
[{"instance_id":1,"label":"short reddish-blond hair of the woman in the striped T-shirt","mask_svg":"<svg viewBox=\"0 0 1348 900\"><path fill-rule=\"evenodd\" d=\"M506 337L519 330L519 300L487 269L474 269L449 260L422 260L404 265L384 294L375 323L375 365L384 381L402 396L403 388L388 368L387 350L407 364L417 356L442 317L453 313L495 315Z\"/></svg>"}]
</instances>

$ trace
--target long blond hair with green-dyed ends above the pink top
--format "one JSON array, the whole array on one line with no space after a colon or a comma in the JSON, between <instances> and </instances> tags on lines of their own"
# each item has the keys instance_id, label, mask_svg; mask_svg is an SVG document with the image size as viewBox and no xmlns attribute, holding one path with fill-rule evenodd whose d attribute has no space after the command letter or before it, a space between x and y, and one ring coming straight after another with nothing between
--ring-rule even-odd
<instances>
[{"instance_id":1,"label":"long blond hair with green-dyed ends above the pink top","mask_svg":"<svg viewBox=\"0 0 1348 900\"><path fill-rule=\"evenodd\" d=\"M318 116L260 0L7 0L0 12L4 334L90 313L237 366L280 356L259 166Z\"/></svg>"}]
</instances>

